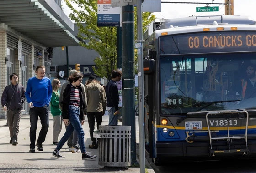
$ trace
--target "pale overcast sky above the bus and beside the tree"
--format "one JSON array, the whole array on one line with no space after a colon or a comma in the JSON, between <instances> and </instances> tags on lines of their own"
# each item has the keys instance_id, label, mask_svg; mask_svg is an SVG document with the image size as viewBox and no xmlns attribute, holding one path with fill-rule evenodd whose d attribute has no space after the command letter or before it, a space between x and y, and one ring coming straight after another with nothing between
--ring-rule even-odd
<instances>
[{"instance_id":1,"label":"pale overcast sky above the bus and beside the tree","mask_svg":"<svg viewBox=\"0 0 256 173\"><path fill-rule=\"evenodd\" d=\"M144 0L146 1L146 0ZM208 2L212 3L213 0L162 0L162 2ZM214 0L213 3L224 3L225 0ZM64 13L68 16L71 12L63 1ZM156 18L173 19L179 17L188 16L204 16L204 15L224 15L224 5L213 5L218 6L218 12L196 12L196 7L204 7L206 4L163 4L161 5L161 12L154 12ZM250 16L256 20L256 0L234 0L234 15L245 15Z\"/></svg>"}]
</instances>

